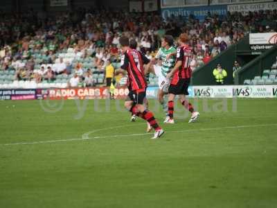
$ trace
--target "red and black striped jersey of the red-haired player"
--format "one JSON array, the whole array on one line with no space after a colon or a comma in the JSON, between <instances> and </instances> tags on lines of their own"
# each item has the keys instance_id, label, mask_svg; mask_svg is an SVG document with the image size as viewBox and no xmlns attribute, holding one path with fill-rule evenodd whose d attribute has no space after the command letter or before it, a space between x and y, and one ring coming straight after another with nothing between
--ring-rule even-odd
<instances>
[{"instance_id":1,"label":"red and black striped jersey of the red-haired player","mask_svg":"<svg viewBox=\"0 0 277 208\"><path fill-rule=\"evenodd\" d=\"M181 67L175 71L172 78L172 85L177 85L179 79L186 79L191 77L192 70L190 69L190 62L192 59L193 51L188 45L180 46L177 49L176 61L181 61Z\"/></svg>"}]
</instances>

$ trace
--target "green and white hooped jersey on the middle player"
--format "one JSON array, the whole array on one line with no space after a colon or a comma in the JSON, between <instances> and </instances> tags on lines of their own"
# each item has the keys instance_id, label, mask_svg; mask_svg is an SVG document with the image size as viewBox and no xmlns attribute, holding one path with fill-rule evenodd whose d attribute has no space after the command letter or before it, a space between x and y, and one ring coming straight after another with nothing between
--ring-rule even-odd
<instances>
[{"instance_id":1,"label":"green and white hooped jersey on the middle player","mask_svg":"<svg viewBox=\"0 0 277 208\"><path fill-rule=\"evenodd\" d=\"M170 53L175 53L175 55L170 55L170 58L166 58L166 56ZM161 59L161 74L166 77L168 72L174 67L176 60L176 49L171 46L168 50L165 48L160 48L155 58Z\"/></svg>"}]
</instances>

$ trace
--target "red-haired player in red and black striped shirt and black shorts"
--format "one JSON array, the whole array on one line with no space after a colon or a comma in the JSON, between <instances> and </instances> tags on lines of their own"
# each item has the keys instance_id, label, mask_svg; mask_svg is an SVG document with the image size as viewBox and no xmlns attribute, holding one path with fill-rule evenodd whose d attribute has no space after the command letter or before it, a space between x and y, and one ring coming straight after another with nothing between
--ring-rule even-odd
<instances>
[{"instance_id":1,"label":"red-haired player in red and black striped shirt and black shorts","mask_svg":"<svg viewBox=\"0 0 277 208\"><path fill-rule=\"evenodd\" d=\"M172 78L172 81L168 89L168 116L164 123L175 123L173 113L174 99L176 95L179 95L179 101L181 101L181 104L192 113L188 123L195 122L199 118L199 112L196 112L193 105L186 101L186 96L188 95L188 85L190 84L190 77L192 75L190 61L193 56L191 47L186 44L188 42L188 35L186 33L182 33L179 36L178 42L179 47L177 48L177 63L167 76L167 78Z\"/></svg>"}]
</instances>

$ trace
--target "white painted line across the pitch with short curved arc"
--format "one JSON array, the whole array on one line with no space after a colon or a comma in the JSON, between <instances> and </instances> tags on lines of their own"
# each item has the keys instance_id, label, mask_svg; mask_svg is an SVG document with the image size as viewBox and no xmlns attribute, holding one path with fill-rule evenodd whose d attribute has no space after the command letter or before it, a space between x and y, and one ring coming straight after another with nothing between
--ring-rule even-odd
<instances>
[{"instance_id":1,"label":"white painted line across the pitch with short curved arc","mask_svg":"<svg viewBox=\"0 0 277 208\"><path fill-rule=\"evenodd\" d=\"M262 126L271 126L277 125L277 123L267 123L267 124L256 124L256 125L235 125L235 126L222 126L217 128L199 128L192 130L172 130L166 132L197 132L197 131L210 131L210 130L221 130L222 128L252 128L252 127L262 127ZM129 126L129 125L125 125ZM120 125L120 127L122 127ZM114 127L114 128L120 128ZM111 128L106 128L102 130L107 130ZM99 131L99 130L98 130ZM59 139L59 140L49 140L49 141L30 141L30 142L18 142L18 143L10 143L10 144L0 144L0 146L16 146L16 145L28 145L28 144L49 144L49 143L57 143L57 142L66 142L66 141L81 141L81 140L90 140L90 139L105 139L105 138L114 138L114 137L136 137L143 135L151 135L152 133L141 133L141 134L132 134L132 135L111 135L111 136L102 136L102 137L91 137L91 138L77 138L77 139Z\"/></svg>"}]
</instances>

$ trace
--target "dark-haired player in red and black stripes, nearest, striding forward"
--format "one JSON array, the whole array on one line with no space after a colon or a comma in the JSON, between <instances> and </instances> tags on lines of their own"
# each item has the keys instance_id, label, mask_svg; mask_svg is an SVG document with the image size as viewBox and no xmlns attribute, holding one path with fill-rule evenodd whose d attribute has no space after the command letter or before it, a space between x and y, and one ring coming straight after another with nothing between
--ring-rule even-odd
<instances>
[{"instance_id":1,"label":"dark-haired player in red and black stripes, nearest, striding forward","mask_svg":"<svg viewBox=\"0 0 277 208\"><path fill-rule=\"evenodd\" d=\"M119 43L123 51L121 57L121 69L125 69L129 78L129 87L132 89L134 95L134 105L129 109L132 114L136 114L145 121L148 121L152 128L154 128L154 137L157 139L163 135L163 130L157 123L154 115L149 110L146 110L143 105L143 100L146 96L147 83L144 76L143 66L145 64L150 67L150 60L140 51L131 49L129 47L129 39L125 36L120 37Z\"/></svg>"}]
</instances>

